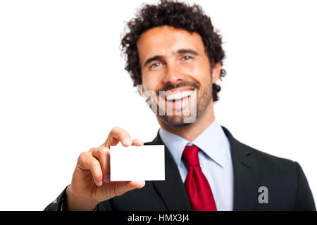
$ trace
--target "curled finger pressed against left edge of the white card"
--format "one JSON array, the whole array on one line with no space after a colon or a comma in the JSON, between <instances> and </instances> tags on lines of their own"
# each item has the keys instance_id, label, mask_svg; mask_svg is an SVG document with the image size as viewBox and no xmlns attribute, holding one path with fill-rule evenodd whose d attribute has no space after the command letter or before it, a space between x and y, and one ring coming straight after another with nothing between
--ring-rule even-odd
<instances>
[{"instance_id":1,"label":"curled finger pressed against left edge of the white card","mask_svg":"<svg viewBox=\"0 0 317 225\"><path fill-rule=\"evenodd\" d=\"M109 148L100 146L99 148L91 148L89 152L91 152L92 156L99 161L101 166L101 171L103 174L103 179L106 176L106 180L108 180L108 177L110 177L110 150Z\"/></svg>"}]
</instances>

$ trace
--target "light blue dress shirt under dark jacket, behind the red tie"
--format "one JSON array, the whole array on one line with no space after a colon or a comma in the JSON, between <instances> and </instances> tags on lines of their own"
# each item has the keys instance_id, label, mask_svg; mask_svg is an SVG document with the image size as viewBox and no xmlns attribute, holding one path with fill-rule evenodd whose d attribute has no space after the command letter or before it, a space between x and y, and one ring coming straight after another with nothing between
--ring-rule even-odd
<instances>
[{"instance_id":1,"label":"light blue dress shirt under dark jacket, behind the red tie","mask_svg":"<svg viewBox=\"0 0 317 225\"><path fill-rule=\"evenodd\" d=\"M230 142L220 124L213 120L209 127L191 143L162 128L159 129L159 134L173 155L183 183L187 176L187 167L185 160L182 159L182 151L187 145L195 145L201 149L198 153L201 170L209 181L217 210L231 211L233 208L233 168Z\"/></svg>"}]
</instances>

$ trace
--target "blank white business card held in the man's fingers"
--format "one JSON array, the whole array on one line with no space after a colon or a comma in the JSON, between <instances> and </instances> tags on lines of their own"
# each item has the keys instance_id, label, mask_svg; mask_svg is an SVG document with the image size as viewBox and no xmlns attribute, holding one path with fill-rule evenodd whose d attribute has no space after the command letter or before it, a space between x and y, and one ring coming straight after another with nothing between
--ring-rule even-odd
<instances>
[{"instance_id":1,"label":"blank white business card held in the man's fingers","mask_svg":"<svg viewBox=\"0 0 317 225\"><path fill-rule=\"evenodd\" d=\"M164 146L110 147L110 181L163 180Z\"/></svg>"}]
</instances>

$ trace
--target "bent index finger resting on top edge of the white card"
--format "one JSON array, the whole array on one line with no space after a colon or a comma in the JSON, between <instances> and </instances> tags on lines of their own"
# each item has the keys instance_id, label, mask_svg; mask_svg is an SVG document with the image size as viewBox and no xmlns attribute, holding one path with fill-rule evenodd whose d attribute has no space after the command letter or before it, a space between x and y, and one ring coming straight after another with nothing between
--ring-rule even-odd
<instances>
[{"instance_id":1,"label":"bent index finger resting on top edge of the white card","mask_svg":"<svg viewBox=\"0 0 317 225\"><path fill-rule=\"evenodd\" d=\"M121 142L123 146L130 146L132 144L131 136L125 129L113 127L105 143L101 146L110 148L110 146L116 146L119 142Z\"/></svg>"}]
</instances>

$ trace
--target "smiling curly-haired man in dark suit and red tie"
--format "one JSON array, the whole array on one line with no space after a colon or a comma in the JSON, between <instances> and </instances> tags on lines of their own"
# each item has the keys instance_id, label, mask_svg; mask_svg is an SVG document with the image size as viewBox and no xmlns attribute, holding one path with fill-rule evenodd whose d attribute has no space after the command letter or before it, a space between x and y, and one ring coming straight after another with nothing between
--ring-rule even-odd
<instances>
[{"instance_id":1,"label":"smiling curly-haired man in dark suit and red tie","mask_svg":"<svg viewBox=\"0 0 317 225\"><path fill-rule=\"evenodd\" d=\"M316 210L297 162L240 143L215 120L225 53L199 6L146 5L128 27L125 69L158 108L161 129L145 144L166 146L166 180L109 181L110 146L143 145L115 127L80 154L71 184L45 210Z\"/></svg>"}]
</instances>

